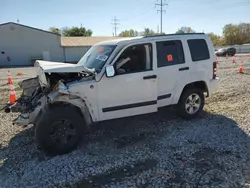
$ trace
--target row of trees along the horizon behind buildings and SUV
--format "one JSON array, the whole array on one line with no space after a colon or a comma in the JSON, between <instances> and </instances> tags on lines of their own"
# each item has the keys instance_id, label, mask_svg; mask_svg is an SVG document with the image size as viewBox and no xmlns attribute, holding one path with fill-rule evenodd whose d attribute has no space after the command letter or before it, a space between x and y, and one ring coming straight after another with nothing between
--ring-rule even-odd
<instances>
[{"instance_id":1,"label":"row of trees along the horizon behind buildings and SUV","mask_svg":"<svg viewBox=\"0 0 250 188\"><path fill-rule=\"evenodd\" d=\"M86 29L85 27L71 27L58 29L56 27L51 27L49 29L51 32L63 35L63 36L92 36L93 31ZM183 26L176 31L177 34L180 33L196 33L191 27ZM164 33L162 33L164 34ZM250 43L250 23L240 23L240 24L226 24L223 27L222 36L217 35L213 32L206 33L210 36L213 44L215 46L224 45L236 45L236 44L246 44ZM144 31L136 31L134 29L129 29L122 31L120 37L136 37L136 36L154 36L159 35L150 28L145 28Z\"/></svg>"}]
</instances>

